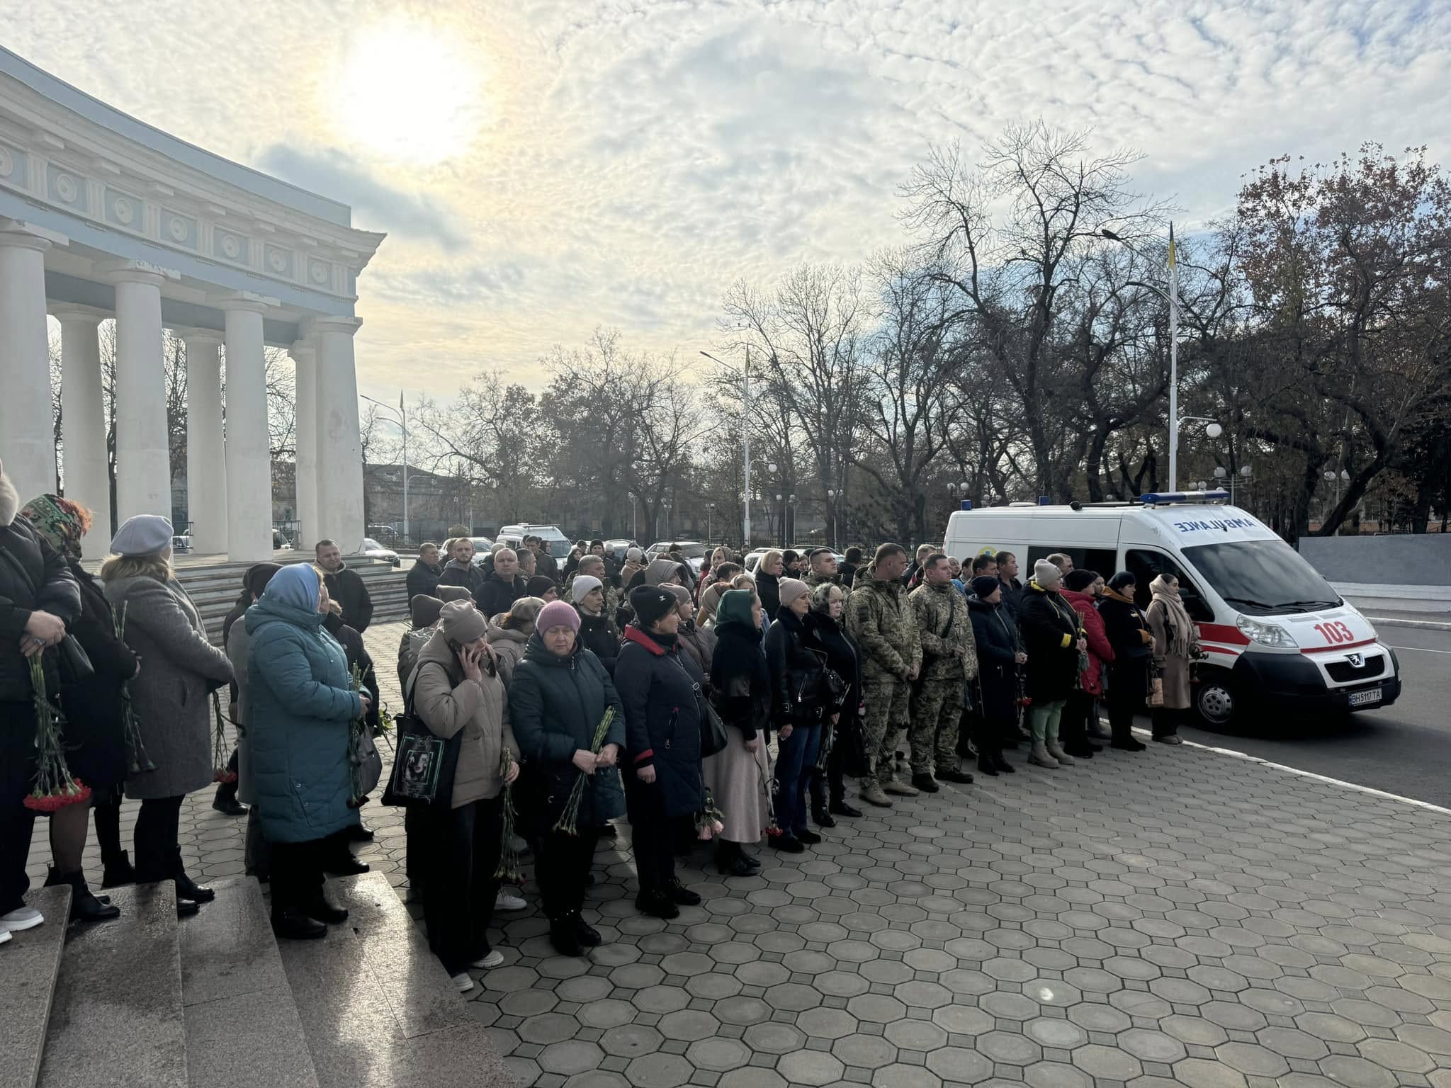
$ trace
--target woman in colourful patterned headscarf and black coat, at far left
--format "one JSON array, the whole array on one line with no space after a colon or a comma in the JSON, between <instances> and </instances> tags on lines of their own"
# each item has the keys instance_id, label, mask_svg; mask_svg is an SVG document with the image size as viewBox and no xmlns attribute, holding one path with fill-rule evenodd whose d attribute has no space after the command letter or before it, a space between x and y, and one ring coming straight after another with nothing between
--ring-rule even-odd
<instances>
[{"instance_id":1,"label":"woman in colourful patterned headscarf and black coat, at far left","mask_svg":"<svg viewBox=\"0 0 1451 1088\"><path fill-rule=\"evenodd\" d=\"M135 878L126 852L120 849L120 798L126 778L126 737L122 718L122 686L141 667L136 654L116 638L110 603L100 582L81 566L81 537L91 525L84 506L57 495L42 495L20 514L41 540L65 559L81 590L81 614L65 630L75 635L94 670L86 677L61 676L61 711L65 714L65 763L71 775L91 791L96 809L96 838L104 866L103 886L129 883ZM102 902L86 883L81 854L86 850L87 805L62 805L51 814L51 857L46 886L71 888L71 918L104 921L120 908ZM107 883L109 882L109 883Z\"/></svg>"}]
</instances>

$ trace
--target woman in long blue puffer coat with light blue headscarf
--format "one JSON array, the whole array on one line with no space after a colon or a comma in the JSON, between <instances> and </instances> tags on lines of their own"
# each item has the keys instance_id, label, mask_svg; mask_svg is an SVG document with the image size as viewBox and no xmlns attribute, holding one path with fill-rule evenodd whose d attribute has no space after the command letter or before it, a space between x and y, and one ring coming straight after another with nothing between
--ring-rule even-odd
<instances>
[{"instance_id":1,"label":"woman in long blue puffer coat with light blue headscarf","mask_svg":"<svg viewBox=\"0 0 1451 1088\"><path fill-rule=\"evenodd\" d=\"M308 563L277 572L247 609L252 799L273 847L273 930L321 937L345 910L322 895L325 840L358 823L348 808L351 721L369 709L347 656L322 625L328 590Z\"/></svg>"}]
</instances>

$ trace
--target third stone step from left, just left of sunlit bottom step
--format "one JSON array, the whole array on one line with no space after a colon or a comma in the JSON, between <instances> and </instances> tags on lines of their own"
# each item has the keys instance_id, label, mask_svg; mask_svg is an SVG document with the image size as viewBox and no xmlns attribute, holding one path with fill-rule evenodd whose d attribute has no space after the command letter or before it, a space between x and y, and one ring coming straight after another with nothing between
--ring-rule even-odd
<instances>
[{"instance_id":1,"label":"third stone step from left, just left of sunlit bottom step","mask_svg":"<svg viewBox=\"0 0 1451 1088\"><path fill-rule=\"evenodd\" d=\"M261 886L231 876L212 889L180 921L192 1088L318 1088Z\"/></svg>"}]
</instances>

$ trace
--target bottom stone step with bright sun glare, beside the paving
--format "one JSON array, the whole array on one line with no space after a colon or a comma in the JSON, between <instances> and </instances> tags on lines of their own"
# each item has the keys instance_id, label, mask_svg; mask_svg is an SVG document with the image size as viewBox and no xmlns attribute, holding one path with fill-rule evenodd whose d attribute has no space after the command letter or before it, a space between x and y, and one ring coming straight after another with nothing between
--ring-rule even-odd
<instances>
[{"instance_id":1,"label":"bottom stone step with bright sun glare, beside the paving","mask_svg":"<svg viewBox=\"0 0 1451 1088\"><path fill-rule=\"evenodd\" d=\"M328 897L344 924L279 941L321 1088L517 1088L383 873Z\"/></svg>"}]
</instances>

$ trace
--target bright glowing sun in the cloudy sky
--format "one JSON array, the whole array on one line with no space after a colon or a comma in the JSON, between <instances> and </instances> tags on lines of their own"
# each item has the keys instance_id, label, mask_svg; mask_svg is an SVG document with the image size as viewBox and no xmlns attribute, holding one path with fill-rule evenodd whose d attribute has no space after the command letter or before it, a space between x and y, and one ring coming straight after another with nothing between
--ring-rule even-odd
<instances>
[{"instance_id":1,"label":"bright glowing sun in the cloudy sky","mask_svg":"<svg viewBox=\"0 0 1451 1088\"><path fill-rule=\"evenodd\" d=\"M402 16L353 39L335 88L334 118L350 142L415 162L464 154L483 112L474 57Z\"/></svg>"}]
</instances>

